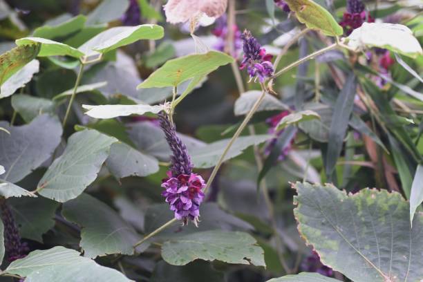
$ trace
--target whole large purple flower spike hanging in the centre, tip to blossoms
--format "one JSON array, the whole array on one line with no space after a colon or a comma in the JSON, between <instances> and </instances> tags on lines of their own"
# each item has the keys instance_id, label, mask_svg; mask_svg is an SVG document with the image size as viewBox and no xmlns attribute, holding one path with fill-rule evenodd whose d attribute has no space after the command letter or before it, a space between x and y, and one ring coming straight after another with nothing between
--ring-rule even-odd
<instances>
[{"instance_id":1,"label":"whole large purple flower spike hanging in the centre, tip to blossoms","mask_svg":"<svg viewBox=\"0 0 423 282\"><path fill-rule=\"evenodd\" d=\"M187 147L176 135L176 128L167 115L160 114L160 127L172 151L171 167L167 172L168 178L162 180L165 189L162 196L166 198L175 218L185 224L191 220L198 226L200 205L204 199L204 179L192 172L194 165L189 157Z\"/></svg>"}]
</instances>

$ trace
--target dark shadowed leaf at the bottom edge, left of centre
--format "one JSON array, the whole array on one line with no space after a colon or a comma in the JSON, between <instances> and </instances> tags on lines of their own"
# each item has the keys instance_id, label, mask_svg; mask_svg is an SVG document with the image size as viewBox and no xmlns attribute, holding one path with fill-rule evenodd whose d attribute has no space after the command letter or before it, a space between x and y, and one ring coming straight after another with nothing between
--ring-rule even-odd
<instances>
[{"instance_id":1,"label":"dark shadowed leaf at the bottom edge, left of centre","mask_svg":"<svg viewBox=\"0 0 423 282\"><path fill-rule=\"evenodd\" d=\"M159 261L154 267L150 282L223 282L223 273L212 268L210 263L196 261L189 265L169 265Z\"/></svg>"}]
</instances>

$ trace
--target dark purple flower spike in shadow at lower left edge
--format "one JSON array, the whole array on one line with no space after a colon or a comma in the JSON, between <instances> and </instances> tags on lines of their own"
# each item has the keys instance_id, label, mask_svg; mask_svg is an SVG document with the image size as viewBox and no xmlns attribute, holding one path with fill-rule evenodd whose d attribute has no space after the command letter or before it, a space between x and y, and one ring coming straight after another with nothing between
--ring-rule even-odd
<instances>
[{"instance_id":1,"label":"dark purple flower spike in shadow at lower left edge","mask_svg":"<svg viewBox=\"0 0 423 282\"><path fill-rule=\"evenodd\" d=\"M8 254L8 261L22 259L26 256L28 247L22 243L12 210L4 200L1 203L1 219L4 225L4 247Z\"/></svg>"}]
</instances>

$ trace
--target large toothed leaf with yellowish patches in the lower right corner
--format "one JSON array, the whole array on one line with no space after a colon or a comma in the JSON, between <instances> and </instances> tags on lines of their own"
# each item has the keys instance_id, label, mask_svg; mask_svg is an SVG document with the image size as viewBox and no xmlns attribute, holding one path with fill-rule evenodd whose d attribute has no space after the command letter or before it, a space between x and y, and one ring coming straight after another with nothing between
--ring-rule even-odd
<instances>
[{"instance_id":1,"label":"large toothed leaf with yellowish patches in the lower right corner","mask_svg":"<svg viewBox=\"0 0 423 282\"><path fill-rule=\"evenodd\" d=\"M294 184L294 216L321 262L355 282L419 281L423 277L423 216L409 220L401 194L332 185Z\"/></svg>"}]
</instances>

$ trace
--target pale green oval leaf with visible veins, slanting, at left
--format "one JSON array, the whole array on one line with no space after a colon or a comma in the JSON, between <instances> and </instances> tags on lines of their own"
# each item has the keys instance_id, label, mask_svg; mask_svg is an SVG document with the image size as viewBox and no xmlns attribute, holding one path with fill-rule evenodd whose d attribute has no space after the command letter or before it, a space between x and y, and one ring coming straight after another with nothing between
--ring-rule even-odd
<instances>
[{"instance_id":1,"label":"pale green oval leaf with visible veins, slanting, at left","mask_svg":"<svg viewBox=\"0 0 423 282\"><path fill-rule=\"evenodd\" d=\"M37 191L60 203L76 198L97 178L111 144L116 141L92 129L73 133L62 156L39 180Z\"/></svg>"}]
</instances>

